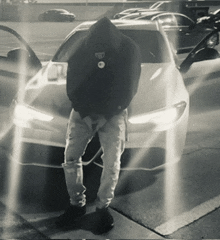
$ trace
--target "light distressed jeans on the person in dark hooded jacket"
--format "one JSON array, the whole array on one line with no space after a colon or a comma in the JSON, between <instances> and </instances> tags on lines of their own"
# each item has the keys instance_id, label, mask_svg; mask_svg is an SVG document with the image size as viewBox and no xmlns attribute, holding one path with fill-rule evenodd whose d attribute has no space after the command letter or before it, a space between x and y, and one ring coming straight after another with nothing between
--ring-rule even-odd
<instances>
[{"instance_id":1,"label":"light distressed jeans on the person in dark hooded jacket","mask_svg":"<svg viewBox=\"0 0 220 240\"><path fill-rule=\"evenodd\" d=\"M102 115L81 118L74 110L67 127L65 162L62 164L72 205L86 204L82 156L96 132L102 147L103 170L96 206L106 208L114 197L119 178L120 158L125 147L127 110L106 120Z\"/></svg>"}]
</instances>

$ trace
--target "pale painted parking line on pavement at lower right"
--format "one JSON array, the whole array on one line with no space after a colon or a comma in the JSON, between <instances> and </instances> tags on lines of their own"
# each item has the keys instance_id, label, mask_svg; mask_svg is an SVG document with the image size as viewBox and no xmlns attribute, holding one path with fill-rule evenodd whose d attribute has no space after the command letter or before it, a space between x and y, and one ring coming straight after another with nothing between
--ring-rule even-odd
<instances>
[{"instance_id":1,"label":"pale painted parking line on pavement at lower right","mask_svg":"<svg viewBox=\"0 0 220 240\"><path fill-rule=\"evenodd\" d=\"M208 213L214 211L219 207L220 207L220 195L196 206L195 208L191 209L188 212L182 213L170 219L166 223L163 223L160 226L156 227L155 231L163 236L170 235L177 231L178 229L195 222L199 218L207 215Z\"/></svg>"}]
</instances>

